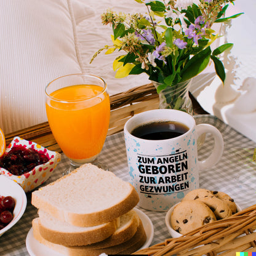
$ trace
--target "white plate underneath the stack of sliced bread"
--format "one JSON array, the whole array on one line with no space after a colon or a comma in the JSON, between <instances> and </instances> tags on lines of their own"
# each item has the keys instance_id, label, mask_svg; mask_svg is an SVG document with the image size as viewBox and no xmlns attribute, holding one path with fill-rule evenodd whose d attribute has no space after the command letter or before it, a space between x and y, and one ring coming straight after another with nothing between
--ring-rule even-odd
<instances>
[{"instance_id":1,"label":"white plate underneath the stack of sliced bread","mask_svg":"<svg viewBox=\"0 0 256 256\"><path fill-rule=\"evenodd\" d=\"M138 217L140 217L140 220L142 220L142 224L146 232L146 242L140 249L147 248L150 246L153 240L153 236L154 236L153 224L150 218L148 218L148 216L144 214L141 210L138 210L138 209L134 209L134 210L137 212ZM26 235L26 249L28 250L28 253L30 254L30 256L41 256L41 255L63 256L57 251L52 250L47 246L44 246L44 244L41 244L36 239L34 239L33 228L31 228L30 231L28 231L28 234Z\"/></svg>"}]
</instances>

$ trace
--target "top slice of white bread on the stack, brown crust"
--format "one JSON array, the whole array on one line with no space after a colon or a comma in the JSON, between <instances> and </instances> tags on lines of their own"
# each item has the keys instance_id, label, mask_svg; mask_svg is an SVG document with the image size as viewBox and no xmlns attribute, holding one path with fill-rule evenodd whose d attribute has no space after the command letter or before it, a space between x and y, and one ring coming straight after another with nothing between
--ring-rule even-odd
<instances>
[{"instance_id":1,"label":"top slice of white bread on the stack, brown crust","mask_svg":"<svg viewBox=\"0 0 256 256\"><path fill-rule=\"evenodd\" d=\"M92 164L34 191L31 199L33 206L75 226L111 222L138 201L134 186Z\"/></svg>"}]
</instances>

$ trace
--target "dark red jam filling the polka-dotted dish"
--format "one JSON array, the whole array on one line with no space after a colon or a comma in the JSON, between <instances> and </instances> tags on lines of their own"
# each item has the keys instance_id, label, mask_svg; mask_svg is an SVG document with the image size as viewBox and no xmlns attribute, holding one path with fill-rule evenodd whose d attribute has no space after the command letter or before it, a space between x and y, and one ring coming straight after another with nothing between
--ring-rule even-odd
<instances>
[{"instance_id":1,"label":"dark red jam filling the polka-dotted dish","mask_svg":"<svg viewBox=\"0 0 256 256\"><path fill-rule=\"evenodd\" d=\"M0 167L8 170L13 175L22 175L30 172L39 164L48 161L49 158L45 154L39 153L34 148L15 145L0 158Z\"/></svg>"}]
</instances>

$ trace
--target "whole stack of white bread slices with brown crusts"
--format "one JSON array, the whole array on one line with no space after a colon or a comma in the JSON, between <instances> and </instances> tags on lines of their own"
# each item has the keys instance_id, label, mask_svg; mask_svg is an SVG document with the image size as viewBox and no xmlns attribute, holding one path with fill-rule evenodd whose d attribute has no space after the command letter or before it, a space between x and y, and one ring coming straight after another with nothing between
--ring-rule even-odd
<instances>
[{"instance_id":1,"label":"whole stack of white bread slices with brown crusts","mask_svg":"<svg viewBox=\"0 0 256 256\"><path fill-rule=\"evenodd\" d=\"M32 193L34 238L63 255L131 254L146 241L138 200L130 183L84 164Z\"/></svg>"}]
</instances>

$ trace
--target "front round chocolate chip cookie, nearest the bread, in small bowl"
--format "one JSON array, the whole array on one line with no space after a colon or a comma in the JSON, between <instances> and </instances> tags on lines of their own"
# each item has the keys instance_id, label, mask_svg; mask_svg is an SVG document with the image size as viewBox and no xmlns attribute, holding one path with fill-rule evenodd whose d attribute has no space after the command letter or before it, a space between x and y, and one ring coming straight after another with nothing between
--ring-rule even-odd
<instances>
[{"instance_id":1,"label":"front round chocolate chip cookie, nearest the bread, in small bowl","mask_svg":"<svg viewBox=\"0 0 256 256\"><path fill-rule=\"evenodd\" d=\"M215 220L216 217L212 210L197 200L186 200L178 203L170 216L172 228L181 234L186 234Z\"/></svg>"}]
</instances>

